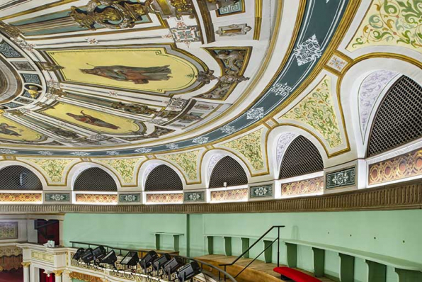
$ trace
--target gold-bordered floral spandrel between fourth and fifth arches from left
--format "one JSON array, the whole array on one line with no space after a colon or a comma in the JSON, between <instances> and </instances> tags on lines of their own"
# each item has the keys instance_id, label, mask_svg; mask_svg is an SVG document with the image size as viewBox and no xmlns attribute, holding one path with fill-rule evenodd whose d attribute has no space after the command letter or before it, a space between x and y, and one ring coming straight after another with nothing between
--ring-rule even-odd
<instances>
[{"instance_id":1,"label":"gold-bordered floral spandrel between fourth and fifth arches from left","mask_svg":"<svg viewBox=\"0 0 422 282\"><path fill-rule=\"evenodd\" d=\"M241 158L249 167L252 176L266 174L268 173L268 157L266 155L268 131L268 128L261 127L216 147L227 148Z\"/></svg>"}]
</instances>

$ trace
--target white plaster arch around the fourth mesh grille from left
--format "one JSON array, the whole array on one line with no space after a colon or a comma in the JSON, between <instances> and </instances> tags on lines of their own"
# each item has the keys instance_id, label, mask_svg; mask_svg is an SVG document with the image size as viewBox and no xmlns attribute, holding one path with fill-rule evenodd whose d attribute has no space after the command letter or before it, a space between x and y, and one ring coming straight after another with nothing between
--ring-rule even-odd
<instances>
[{"instance_id":1,"label":"white plaster arch around the fourth mesh grille from left","mask_svg":"<svg viewBox=\"0 0 422 282\"><path fill-rule=\"evenodd\" d=\"M242 169L244 169L246 173L246 176L248 177L248 182L251 181L251 171L249 171L248 166L246 166L246 163L243 159L237 157L235 154L227 150L215 149L206 152L201 163L201 179L203 179L203 181L205 180L205 188L210 186L210 177L215 164L217 164L220 159L227 156L232 157L241 165Z\"/></svg>"}]
</instances>

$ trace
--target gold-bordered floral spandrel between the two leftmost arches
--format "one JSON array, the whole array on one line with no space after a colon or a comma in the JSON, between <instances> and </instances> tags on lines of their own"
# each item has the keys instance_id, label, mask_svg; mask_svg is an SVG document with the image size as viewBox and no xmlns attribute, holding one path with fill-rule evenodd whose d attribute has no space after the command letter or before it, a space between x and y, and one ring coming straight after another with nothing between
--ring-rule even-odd
<instances>
[{"instance_id":1,"label":"gold-bordered floral spandrel between the two leftmost arches","mask_svg":"<svg viewBox=\"0 0 422 282\"><path fill-rule=\"evenodd\" d=\"M18 161L35 167L47 180L50 186L66 186L67 176L70 169L81 162L80 159L56 159L56 158L16 158Z\"/></svg>"}]
</instances>

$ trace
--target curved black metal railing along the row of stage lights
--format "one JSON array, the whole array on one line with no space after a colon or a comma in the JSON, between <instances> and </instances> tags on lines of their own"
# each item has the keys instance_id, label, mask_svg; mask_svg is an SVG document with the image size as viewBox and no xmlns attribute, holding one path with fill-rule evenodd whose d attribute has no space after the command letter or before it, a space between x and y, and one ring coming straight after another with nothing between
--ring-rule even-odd
<instances>
[{"instance_id":1,"label":"curved black metal railing along the row of stage lights","mask_svg":"<svg viewBox=\"0 0 422 282\"><path fill-rule=\"evenodd\" d=\"M75 241L70 241L70 243L72 243L72 248L78 248L77 245L85 245L88 246L89 248L91 246L94 247L104 247L105 249L107 249L107 252L110 252L110 250L114 250L116 252L116 254L119 254L119 256L122 256L125 252L141 252L141 253L147 253L149 252L151 249L126 249L126 248L121 248L121 247L112 247L112 246L108 246L105 244L96 244L96 243L89 243L89 242L75 242ZM179 256L178 252L161 252L161 251L156 251L157 254L169 254L170 256ZM224 281L226 281L226 277L229 278L229 281L232 282L237 282L235 278L233 278L233 276L231 276L229 273L227 273L225 270L223 271L222 269L219 269L217 266L213 266L212 264L207 264L204 261L200 261L198 259L193 259L187 256L181 256L181 258L183 258L185 261L196 261L198 262L198 264L200 264L201 266L201 271L205 276L208 276L214 280L218 281L222 281L222 276L224 276ZM204 266L207 266L211 269L211 271L205 271L204 270ZM216 271L218 273L218 278L217 276L213 275L213 272Z\"/></svg>"}]
</instances>

